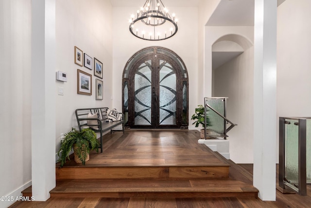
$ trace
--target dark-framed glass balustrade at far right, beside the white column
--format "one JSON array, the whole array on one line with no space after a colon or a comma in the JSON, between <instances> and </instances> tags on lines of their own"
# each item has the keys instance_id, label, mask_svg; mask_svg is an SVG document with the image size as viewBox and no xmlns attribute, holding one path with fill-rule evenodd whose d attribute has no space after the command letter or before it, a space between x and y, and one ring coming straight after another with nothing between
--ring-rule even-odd
<instances>
[{"instance_id":1,"label":"dark-framed glass balustrade at far right, beside the white column","mask_svg":"<svg viewBox=\"0 0 311 208\"><path fill-rule=\"evenodd\" d=\"M279 186L307 194L311 183L311 118L279 118Z\"/></svg>"}]
</instances>

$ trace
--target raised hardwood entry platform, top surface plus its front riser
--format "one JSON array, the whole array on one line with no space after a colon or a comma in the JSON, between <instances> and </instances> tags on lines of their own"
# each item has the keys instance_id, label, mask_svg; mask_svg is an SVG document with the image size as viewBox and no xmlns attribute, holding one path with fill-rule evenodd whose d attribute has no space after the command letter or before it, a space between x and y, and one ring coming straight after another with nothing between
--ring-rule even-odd
<instances>
[{"instance_id":1,"label":"raised hardwood entry platform, top surface plus its front riser","mask_svg":"<svg viewBox=\"0 0 311 208\"><path fill-rule=\"evenodd\" d=\"M229 164L198 144L197 131L126 131L107 135L85 166L70 160L56 179L227 178ZM96 172L97 174L94 174Z\"/></svg>"}]
</instances>

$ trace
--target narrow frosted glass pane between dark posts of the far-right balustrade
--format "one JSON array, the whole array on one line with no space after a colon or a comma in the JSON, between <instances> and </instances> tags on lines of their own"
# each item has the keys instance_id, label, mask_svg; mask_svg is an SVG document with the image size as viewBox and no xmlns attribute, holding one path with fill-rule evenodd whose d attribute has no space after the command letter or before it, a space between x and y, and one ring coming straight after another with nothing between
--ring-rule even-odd
<instances>
[{"instance_id":1,"label":"narrow frosted glass pane between dark posts of the far-right balustrade","mask_svg":"<svg viewBox=\"0 0 311 208\"><path fill-rule=\"evenodd\" d=\"M298 191L298 120L285 119L285 184Z\"/></svg>"}]
</instances>

